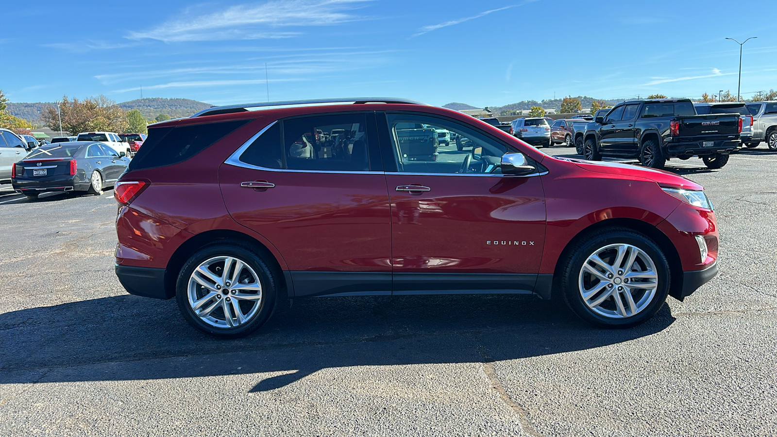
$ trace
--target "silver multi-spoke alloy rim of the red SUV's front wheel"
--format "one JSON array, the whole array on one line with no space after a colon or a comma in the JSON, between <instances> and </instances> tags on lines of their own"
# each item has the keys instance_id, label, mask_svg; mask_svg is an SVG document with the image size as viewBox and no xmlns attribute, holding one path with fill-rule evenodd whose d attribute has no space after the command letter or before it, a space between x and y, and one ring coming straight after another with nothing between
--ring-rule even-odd
<instances>
[{"instance_id":1,"label":"silver multi-spoke alloy rim of the red SUV's front wheel","mask_svg":"<svg viewBox=\"0 0 777 437\"><path fill-rule=\"evenodd\" d=\"M644 250L631 244L609 244L587 257L578 282L588 309L622 319L650 305L658 289L658 274Z\"/></svg>"}]
</instances>

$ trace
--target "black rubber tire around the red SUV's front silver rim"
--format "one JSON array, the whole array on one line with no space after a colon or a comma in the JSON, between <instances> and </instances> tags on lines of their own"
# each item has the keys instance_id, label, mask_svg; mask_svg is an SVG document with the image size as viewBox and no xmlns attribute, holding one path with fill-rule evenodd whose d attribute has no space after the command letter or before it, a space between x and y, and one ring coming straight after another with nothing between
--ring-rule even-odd
<instances>
[{"instance_id":1,"label":"black rubber tire around the red SUV's front silver rim","mask_svg":"<svg viewBox=\"0 0 777 437\"><path fill-rule=\"evenodd\" d=\"M638 303L639 299L641 299L643 296L648 296L644 302L644 306L639 309L639 311L630 316L622 316L621 318L605 316L601 313L598 313L597 311L594 311L594 309L591 309L591 307L589 307L584 302L582 295L583 292L580 290L580 278L583 276L583 273L581 272L584 267L584 262L588 260L588 257L591 257L591 255L594 253L599 252L599 250L602 248L615 244L628 244L635 246L639 250L642 250L644 253L646 253L646 255L650 257L650 260L653 261L657 277L657 287L652 297L649 297L649 294L647 294L649 292L641 290L640 288L629 290L627 285L622 286L625 288L625 291L615 292L615 295L621 299L622 305L624 306L628 306L628 304L625 303L625 299L620 296L625 295L626 292L632 295L632 300L637 299L636 302ZM572 309L572 311L577 314L577 316L583 320L586 320L588 323L594 324L598 327L634 327L653 317L661 308L661 306L664 305L664 302L667 299L671 280L667 257L656 243L640 232L619 227L600 229L591 233L591 235L580 239L577 241L577 243L574 243L569 250L566 250L566 253L566 257L564 257L562 260L563 264L560 264L563 266L563 268L561 274L559 274L558 281L556 282L558 287L557 289L562 292L564 300L566 301L566 304L570 306L570 309ZM594 295L591 297L593 298L597 295L601 296L601 293L614 292L614 290L617 289L614 285L617 283L615 282L615 279L619 279L619 277L616 275L613 281L610 283L613 284L612 287L608 285L608 288L603 288L603 292L594 293ZM585 283L586 282L584 281L584 284ZM595 288L595 284L593 288ZM642 295L642 293L646 294ZM615 295L606 298L605 301L600 304L601 309L606 311L608 307L616 308Z\"/></svg>"}]
</instances>

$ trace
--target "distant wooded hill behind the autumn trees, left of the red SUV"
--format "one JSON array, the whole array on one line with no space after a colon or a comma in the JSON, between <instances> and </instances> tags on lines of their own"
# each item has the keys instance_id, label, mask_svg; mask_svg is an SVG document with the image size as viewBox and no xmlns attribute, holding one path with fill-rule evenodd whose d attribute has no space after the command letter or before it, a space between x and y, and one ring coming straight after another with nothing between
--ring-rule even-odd
<instances>
[{"instance_id":1,"label":"distant wooded hill behind the autumn trees, left of the red SUV","mask_svg":"<svg viewBox=\"0 0 777 437\"><path fill-rule=\"evenodd\" d=\"M49 105L55 106L56 103L8 103L8 110L16 117L40 123L40 114L44 107ZM167 114L172 118L189 117L200 110L211 107L211 105L189 99L146 98L119 103L119 107L124 110L140 110L144 117L152 119L159 114Z\"/></svg>"}]
</instances>

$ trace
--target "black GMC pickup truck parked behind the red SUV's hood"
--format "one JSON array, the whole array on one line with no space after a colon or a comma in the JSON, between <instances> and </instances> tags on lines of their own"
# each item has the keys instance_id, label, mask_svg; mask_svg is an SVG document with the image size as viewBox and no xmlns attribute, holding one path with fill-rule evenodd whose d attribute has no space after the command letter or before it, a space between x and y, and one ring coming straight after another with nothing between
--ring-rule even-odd
<instances>
[{"instance_id":1,"label":"black GMC pickup truck parked behind the red SUV's hood","mask_svg":"<svg viewBox=\"0 0 777 437\"><path fill-rule=\"evenodd\" d=\"M697 115L689 99L632 100L596 117L584 133L583 156L638 158L660 169L670 158L700 156L720 169L741 147L739 114Z\"/></svg>"}]
</instances>

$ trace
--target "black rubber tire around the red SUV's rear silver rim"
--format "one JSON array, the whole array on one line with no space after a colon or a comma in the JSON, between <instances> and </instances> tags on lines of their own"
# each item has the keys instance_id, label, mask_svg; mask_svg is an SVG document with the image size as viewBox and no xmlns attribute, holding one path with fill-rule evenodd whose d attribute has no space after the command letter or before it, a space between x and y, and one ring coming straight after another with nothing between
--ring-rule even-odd
<instances>
[{"instance_id":1,"label":"black rubber tire around the red SUV's rear silver rim","mask_svg":"<svg viewBox=\"0 0 777 437\"><path fill-rule=\"evenodd\" d=\"M197 316L197 314L194 313L194 309L192 309L192 306L190 305L189 281L193 271L195 268L199 267L200 264L203 264L205 261L211 260L214 257L234 257L238 260L241 260L244 264L250 267L253 272L256 272L258 278L255 279L258 280L259 284L261 285L262 297L259 302L254 303L254 305L258 305L259 308L256 310L256 312L251 314L248 320L242 322L239 324L239 326L212 326L211 324L202 320L200 316ZM176 301L178 302L178 308L183 315L183 318L186 319L186 321L189 322L189 324L195 329L200 330L205 334L219 338L246 337L246 335L253 333L253 331L259 329L264 323L267 322L268 319L270 319L270 316L272 315L277 302L278 283L279 282L276 278L276 274L274 274L273 270L268 267L268 264L262 259L261 255L256 253L256 250L253 250L249 246L243 246L241 243L236 241L222 240L221 242L211 243L207 246L204 246L202 249L197 250L197 252L194 253L188 261L186 261L186 264L183 264L183 267L181 268L181 271L178 274L178 279L176 281ZM202 292L205 290L207 290L207 288L203 287L200 289ZM230 298L229 290L226 292L223 291L226 290L226 288L221 288L221 290L224 296L223 298L220 297L221 295L216 296L218 297L218 302L221 302L222 300L226 302L227 299ZM218 305L216 301L212 302ZM235 299L235 302L240 301ZM250 304L252 302L248 303ZM237 305L240 305L240 303ZM253 306L250 306L250 308L253 309ZM226 325L224 309L216 309L214 313L218 313L218 311L221 311L221 317L225 320ZM218 318L218 316L215 316L215 318Z\"/></svg>"}]
</instances>

